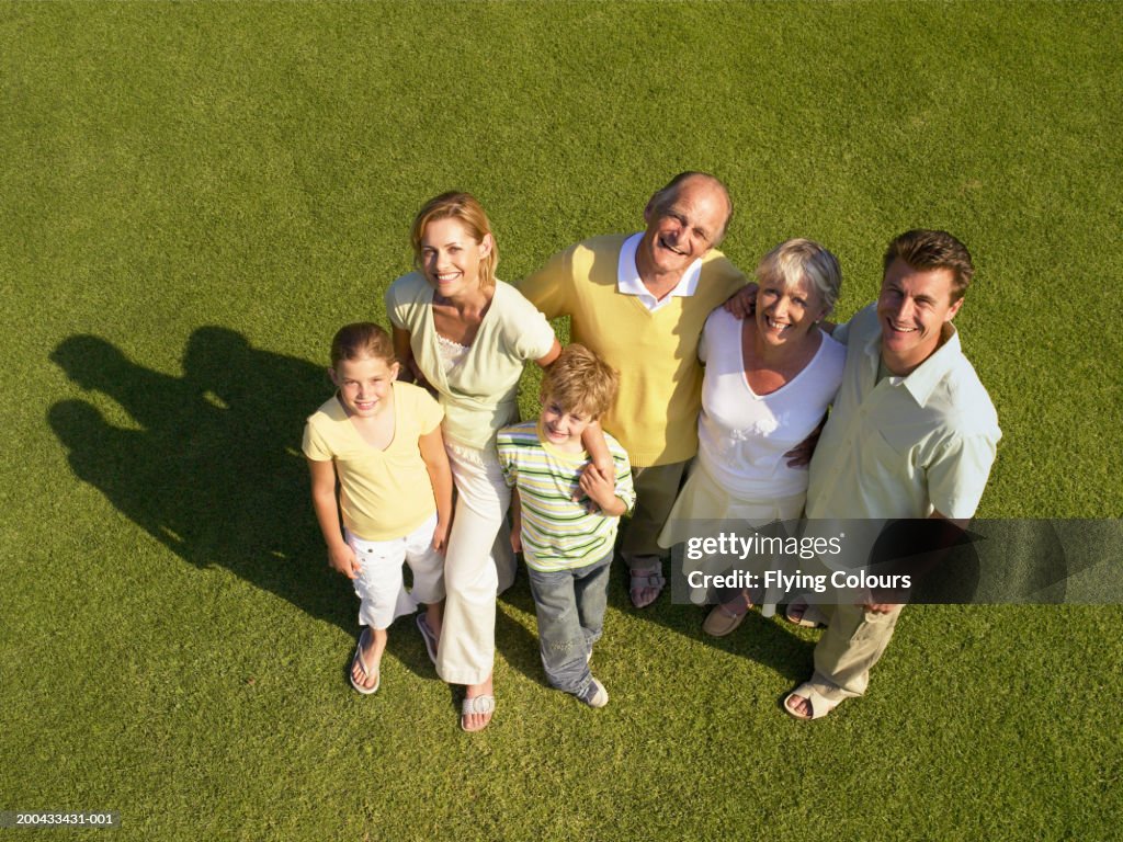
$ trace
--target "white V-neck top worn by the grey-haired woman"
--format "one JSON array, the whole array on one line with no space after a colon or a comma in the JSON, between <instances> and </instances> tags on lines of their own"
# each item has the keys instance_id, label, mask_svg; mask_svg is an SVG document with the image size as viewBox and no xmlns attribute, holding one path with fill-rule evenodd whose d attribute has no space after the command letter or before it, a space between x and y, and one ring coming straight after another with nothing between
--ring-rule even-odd
<instances>
[{"instance_id":1,"label":"white V-neck top worn by the grey-haired woman","mask_svg":"<svg viewBox=\"0 0 1123 842\"><path fill-rule=\"evenodd\" d=\"M699 345L705 363L699 463L725 491L742 498L779 497L807 489L807 469L784 454L803 441L834 400L846 347L822 335L819 350L795 377L758 395L745 376L741 322L722 308L706 319Z\"/></svg>"}]
</instances>

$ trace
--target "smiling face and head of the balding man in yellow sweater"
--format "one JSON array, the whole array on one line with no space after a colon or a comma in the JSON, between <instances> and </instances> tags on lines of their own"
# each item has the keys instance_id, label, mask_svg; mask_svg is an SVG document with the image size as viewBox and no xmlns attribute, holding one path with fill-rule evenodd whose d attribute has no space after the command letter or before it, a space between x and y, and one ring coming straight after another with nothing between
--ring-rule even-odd
<instances>
[{"instance_id":1,"label":"smiling face and head of the balding man in yellow sweater","mask_svg":"<svg viewBox=\"0 0 1123 842\"><path fill-rule=\"evenodd\" d=\"M725 194L710 179L687 179L669 195L656 193L643 211L647 230L636 253L640 277L681 277L721 239L728 217Z\"/></svg>"}]
</instances>

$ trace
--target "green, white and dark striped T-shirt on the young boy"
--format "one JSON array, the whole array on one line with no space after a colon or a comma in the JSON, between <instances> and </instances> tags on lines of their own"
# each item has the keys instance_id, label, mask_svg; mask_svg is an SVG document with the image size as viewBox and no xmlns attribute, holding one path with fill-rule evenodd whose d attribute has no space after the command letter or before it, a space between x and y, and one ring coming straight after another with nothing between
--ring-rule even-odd
<instances>
[{"instance_id":1,"label":"green, white and dark striped T-shirt on the young boy","mask_svg":"<svg viewBox=\"0 0 1123 842\"><path fill-rule=\"evenodd\" d=\"M636 504L628 454L604 433L615 466L615 493L628 511ZM588 454L566 454L540 434L537 421L505 427L495 439L506 484L517 488L522 509L522 552L536 570L568 570L600 561L612 552L619 518L590 514L577 483Z\"/></svg>"}]
</instances>

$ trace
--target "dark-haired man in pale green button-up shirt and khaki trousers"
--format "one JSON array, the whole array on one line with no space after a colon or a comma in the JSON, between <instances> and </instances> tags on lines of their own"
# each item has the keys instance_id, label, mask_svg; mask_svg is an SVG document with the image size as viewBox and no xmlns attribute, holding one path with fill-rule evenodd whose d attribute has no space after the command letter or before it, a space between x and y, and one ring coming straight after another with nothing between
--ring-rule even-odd
<instances>
[{"instance_id":1,"label":"dark-haired man in pale green button-up shirt and khaki trousers","mask_svg":"<svg viewBox=\"0 0 1123 842\"><path fill-rule=\"evenodd\" d=\"M951 323L974 271L950 234L903 234L885 253L877 303L834 330L847 364L811 461L812 525L902 518L966 524L975 514L1002 432ZM865 693L901 608L824 606L814 674L785 697L787 713L819 719Z\"/></svg>"}]
</instances>

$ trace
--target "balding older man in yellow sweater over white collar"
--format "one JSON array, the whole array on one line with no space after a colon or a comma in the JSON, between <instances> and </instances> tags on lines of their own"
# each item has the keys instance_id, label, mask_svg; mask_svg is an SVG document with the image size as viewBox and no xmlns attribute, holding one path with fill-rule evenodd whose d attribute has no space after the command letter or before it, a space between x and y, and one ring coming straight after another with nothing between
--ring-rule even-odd
<instances>
[{"instance_id":1,"label":"balding older man in yellow sweater over white collar","mask_svg":"<svg viewBox=\"0 0 1123 842\"><path fill-rule=\"evenodd\" d=\"M572 317L573 340L620 372L615 406L602 423L633 466L636 512L622 555L637 607L655 602L665 584L656 539L697 451L702 327L745 285L716 249L732 212L718 179L681 173L647 203L646 230L578 242L519 286L548 318Z\"/></svg>"}]
</instances>

